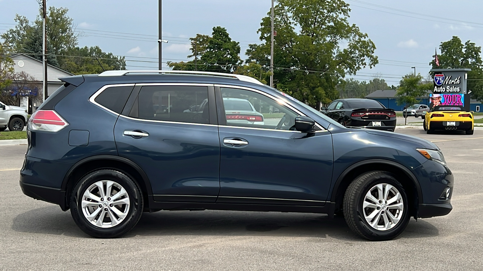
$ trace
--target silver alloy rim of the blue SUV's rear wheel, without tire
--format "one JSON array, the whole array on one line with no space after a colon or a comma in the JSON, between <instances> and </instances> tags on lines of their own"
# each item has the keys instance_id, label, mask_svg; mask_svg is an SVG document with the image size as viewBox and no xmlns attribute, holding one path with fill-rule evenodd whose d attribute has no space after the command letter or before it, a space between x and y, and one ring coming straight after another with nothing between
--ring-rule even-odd
<instances>
[{"instance_id":1,"label":"silver alloy rim of the blue SUV's rear wheel, without tire","mask_svg":"<svg viewBox=\"0 0 483 271\"><path fill-rule=\"evenodd\" d=\"M114 181L98 181L85 190L82 212L92 225L111 228L121 223L129 212L128 192Z\"/></svg>"}]
</instances>

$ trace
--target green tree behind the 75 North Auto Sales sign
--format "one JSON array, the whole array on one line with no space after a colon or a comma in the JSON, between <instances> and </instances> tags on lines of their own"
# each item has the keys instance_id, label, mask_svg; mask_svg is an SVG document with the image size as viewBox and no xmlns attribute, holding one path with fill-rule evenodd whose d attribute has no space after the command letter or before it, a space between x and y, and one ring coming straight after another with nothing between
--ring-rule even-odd
<instances>
[{"instance_id":1,"label":"green tree behind the 75 North Auto Sales sign","mask_svg":"<svg viewBox=\"0 0 483 271\"><path fill-rule=\"evenodd\" d=\"M483 61L481 58L481 46L476 46L474 42L463 42L456 36L449 41L440 44L441 54L438 55L440 66L435 61L429 64L432 68L471 68L468 72L468 90L471 96L479 101L483 101ZM434 55L433 55L434 59ZM431 74L434 76L434 74Z\"/></svg>"}]
</instances>

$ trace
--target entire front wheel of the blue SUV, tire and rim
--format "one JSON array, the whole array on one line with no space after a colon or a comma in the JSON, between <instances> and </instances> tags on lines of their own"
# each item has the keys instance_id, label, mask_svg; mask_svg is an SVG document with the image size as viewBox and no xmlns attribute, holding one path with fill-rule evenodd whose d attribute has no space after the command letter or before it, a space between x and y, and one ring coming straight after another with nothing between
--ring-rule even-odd
<instances>
[{"instance_id":1,"label":"entire front wheel of the blue SUV, tire and rim","mask_svg":"<svg viewBox=\"0 0 483 271\"><path fill-rule=\"evenodd\" d=\"M384 171L356 177L345 192L343 210L349 228L372 241L397 237L410 219L406 191Z\"/></svg>"}]
</instances>

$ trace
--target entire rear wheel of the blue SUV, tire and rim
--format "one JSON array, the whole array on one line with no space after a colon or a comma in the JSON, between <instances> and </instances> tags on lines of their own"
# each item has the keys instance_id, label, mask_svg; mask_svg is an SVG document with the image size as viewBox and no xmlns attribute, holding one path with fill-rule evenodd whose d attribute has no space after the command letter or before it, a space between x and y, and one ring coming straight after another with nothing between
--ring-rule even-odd
<instances>
[{"instance_id":1,"label":"entire rear wheel of the blue SUV, tire and rim","mask_svg":"<svg viewBox=\"0 0 483 271\"><path fill-rule=\"evenodd\" d=\"M88 173L71 194L72 218L93 237L115 238L125 234L138 223L142 209L139 185L114 169Z\"/></svg>"}]
</instances>

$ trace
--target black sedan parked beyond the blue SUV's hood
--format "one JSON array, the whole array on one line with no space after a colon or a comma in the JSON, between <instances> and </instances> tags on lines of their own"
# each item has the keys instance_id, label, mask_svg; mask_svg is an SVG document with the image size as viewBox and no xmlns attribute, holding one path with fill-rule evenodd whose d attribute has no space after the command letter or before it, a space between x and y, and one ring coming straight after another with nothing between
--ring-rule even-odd
<instances>
[{"instance_id":1,"label":"black sedan parked beyond the blue SUV's hood","mask_svg":"<svg viewBox=\"0 0 483 271\"><path fill-rule=\"evenodd\" d=\"M322 113L344 126L363 127L394 132L396 112L370 99L338 99Z\"/></svg>"}]
</instances>

